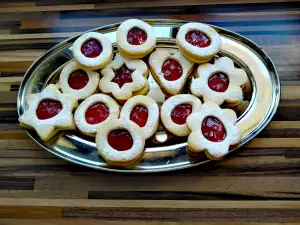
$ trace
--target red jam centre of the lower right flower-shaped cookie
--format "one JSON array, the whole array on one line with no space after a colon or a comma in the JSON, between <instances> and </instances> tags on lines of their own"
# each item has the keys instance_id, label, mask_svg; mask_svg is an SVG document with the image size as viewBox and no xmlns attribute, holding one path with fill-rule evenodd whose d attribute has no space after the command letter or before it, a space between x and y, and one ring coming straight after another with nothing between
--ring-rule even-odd
<instances>
[{"instance_id":1,"label":"red jam centre of the lower right flower-shaped cookie","mask_svg":"<svg viewBox=\"0 0 300 225\"><path fill-rule=\"evenodd\" d=\"M213 142L223 141L226 137L223 123L214 116L208 116L202 121L201 131L207 140Z\"/></svg>"}]
</instances>

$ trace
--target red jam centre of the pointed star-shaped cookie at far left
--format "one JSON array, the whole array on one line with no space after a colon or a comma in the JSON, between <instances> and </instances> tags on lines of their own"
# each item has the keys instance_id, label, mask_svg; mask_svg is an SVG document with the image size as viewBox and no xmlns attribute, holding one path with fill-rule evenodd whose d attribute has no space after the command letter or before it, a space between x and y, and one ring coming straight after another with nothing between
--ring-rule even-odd
<instances>
[{"instance_id":1,"label":"red jam centre of the pointed star-shaped cookie at far left","mask_svg":"<svg viewBox=\"0 0 300 225\"><path fill-rule=\"evenodd\" d=\"M45 99L40 102L36 109L36 115L40 120L50 119L62 110L62 104L60 101Z\"/></svg>"}]
</instances>

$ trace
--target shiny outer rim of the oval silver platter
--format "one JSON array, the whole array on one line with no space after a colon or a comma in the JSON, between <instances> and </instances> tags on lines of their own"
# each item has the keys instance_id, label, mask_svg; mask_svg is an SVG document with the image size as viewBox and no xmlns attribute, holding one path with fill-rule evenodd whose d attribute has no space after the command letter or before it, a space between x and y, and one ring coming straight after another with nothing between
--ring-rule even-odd
<instances>
[{"instance_id":1,"label":"shiny outer rim of the oval silver platter","mask_svg":"<svg viewBox=\"0 0 300 225\"><path fill-rule=\"evenodd\" d=\"M174 23L178 23L183 24L183 23L189 23L189 22L199 22L199 21L191 21L191 20L178 20L178 19L141 19L147 23L154 22L154 23L163 23L163 25L168 25L167 22L169 22L170 24L174 24ZM118 23L112 23L112 24L108 24L105 26L101 26L101 27L95 27L91 30L82 32L80 34L77 34L75 36L69 37L66 40L63 40L61 42L59 42L58 44L56 44L55 46L53 46L52 48L50 48L49 50L47 50L45 53L43 53L41 56L39 56L31 65L30 67L27 69L27 71L25 72L23 79L20 83L20 88L18 91L18 95L17 95L17 112L18 112L18 116L21 115L21 100L20 97L22 96L22 86L25 85L26 80L25 78L29 78L30 74L37 68L38 64L43 61L43 59L45 57L47 57L48 55L51 55L53 52L58 51L58 49L61 46L64 46L66 44L68 44L69 42L71 42L73 39L78 38L80 35L84 34L84 33L88 33L88 32L92 32L92 31L96 31L99 29L107 29L110 27L114 27L117 25L120 25L122 22L118 22ZM202 22L201 22L202 23ZM259 134L272 120L273 116L275 115L278 106L279 106L279 102L280 102L280 98L281 98L281 85L280 85L280 79L279 79L279 75L278 75L278 71L273 63L273 61L271 60L270 56L259 46L257 45L255 42L251 41L250 39L236 33L233 31L230 31L228 29L219 27L219 26L215 26L215 25L211 25L209 23L205 23L211 27L213 27L216 30L222 30L222 32L225 33L226 35L230 35L230 37L234 37L234 39L241 39L243 40L243 44L245 44L246 46L249 46L251 48L253 48L257 53L262 53L259 54L258 57L263 58L266 62L268 62L268 66L267 68L271 67L273 69L273 72L275 74L274 79L275 79L275 83L277 83L278 85L276 86L275 90L273 88L272 85L272 92L274 93L274 97L272 97L271 102L272 105L270 106L266 116L257 124L257 126L255 127L254 130L252 130L249 135L243 140L243 142L241 143L241 145L238 148L235 148L234 150L230 151L227 155L231 154L232 152L237 151L238 149L240 149L241 146L245 145L246 143L248 143L250 140L254 139L255 136L257 134ZM273 79L273 80L274 80ZM273 83L273 82L272 82ZM270 112L271 111L271 112ZM29 132L28 129L24 128L25 132L27 133L27 135L35 142L37 143L39 146L41 146L43 149L45 149L48 152L51 152L52 154L56 155L57 157L64 159L66 161L75 163L77 165L81 165L87 168L93 168L96 170L101 170L101 171L107 171L107 172L118 172L118 173L161 173L161 172L169 172L169 171L177 171L177 170L182 170L182 169L187 169L187 168L193 168L199 165L203 165L209 162L213 162L214 160L205 160L205 161L201 161L198 163L189 163L189 164L185 164L185 165L178 165L178 166L172 166L172 167L168 167L168 168L156 168L156 169L120 169L120 168L107 168L107 167L99 167L99 166L95 166L95 165L90 165L90 164L85 164L82 161L77 161L74 158L70 158L67 155L63 155L60 152L56 152L56 151L52 151L50 149L48 149L44 143L39 142L38 140L36 140Z\"/></svg>"}]
</instances>

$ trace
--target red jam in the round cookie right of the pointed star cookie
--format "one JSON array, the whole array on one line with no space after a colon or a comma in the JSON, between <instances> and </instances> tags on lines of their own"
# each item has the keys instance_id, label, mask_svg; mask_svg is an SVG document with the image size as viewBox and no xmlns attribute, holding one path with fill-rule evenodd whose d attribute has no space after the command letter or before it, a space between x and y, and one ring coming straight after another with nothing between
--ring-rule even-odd
<instances>
[{"instance_id":1,"label":"red jam in the round cookie right of the pointed star cookie","mask_svg":"<svg viewBox=\"0 0 300 225\"><path fill-rule=\"evenodd\" d=\"M109 116L109 109L103 103L91 105L85 113L85 120L88 124L101 123Z\"/></svg>"}]
</instances>

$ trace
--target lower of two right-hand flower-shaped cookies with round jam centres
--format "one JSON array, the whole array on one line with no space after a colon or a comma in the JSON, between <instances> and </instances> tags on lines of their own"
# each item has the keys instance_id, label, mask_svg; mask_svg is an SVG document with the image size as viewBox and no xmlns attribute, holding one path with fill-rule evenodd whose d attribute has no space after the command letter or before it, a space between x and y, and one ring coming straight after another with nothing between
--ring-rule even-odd
<instances>
[{"instance_id":1,"label":"lower of two right-hand flower-shaped cookies with round jam centres","mask_svg":"<svg viewBox=\"0 0 300 225\"><path fill-rule=\"evenodd\" d=\"M231 109L221 109L214 102L205 102L200 112L187 118L192 130L188 137L188 150L191 153L205 151L212 160L224 157L230 146L241 141L240 130L236 127L237 116Z\"/></svg>"}]
</instances>

